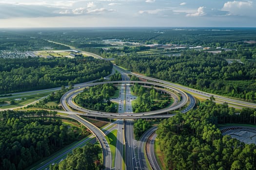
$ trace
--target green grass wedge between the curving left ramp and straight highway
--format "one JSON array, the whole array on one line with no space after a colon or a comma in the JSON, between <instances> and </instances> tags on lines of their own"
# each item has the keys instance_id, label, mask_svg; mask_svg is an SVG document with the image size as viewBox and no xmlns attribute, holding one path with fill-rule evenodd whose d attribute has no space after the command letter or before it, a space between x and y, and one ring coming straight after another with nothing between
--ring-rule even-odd
<instances>
[{"instance_id":1,"label":"green grass wedge between the curving left ramp and straight highway","mask_svg":"<svg viewBox=\"0 0 256 170\"><path fill-rule=\"evenodd\" d=\"M111 131L106 137L111 151L112 168L115 166L118 130Z\"/></svg>"}]
</instances>

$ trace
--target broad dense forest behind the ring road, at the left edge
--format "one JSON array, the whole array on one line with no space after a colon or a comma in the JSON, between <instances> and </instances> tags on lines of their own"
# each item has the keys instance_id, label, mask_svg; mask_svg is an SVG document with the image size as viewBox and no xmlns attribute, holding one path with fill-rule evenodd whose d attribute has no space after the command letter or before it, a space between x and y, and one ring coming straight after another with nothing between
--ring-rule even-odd
<instances>
[{"instance_id":1,"label":"broad dense forest behind the ring road, at the left edge","mask_svg":"<svg viewBox=\"0 0 256 170\"><path fill-rule=\"evenodd\" d=\"M0 58L0 94L87 82L107 76L112 68L111 62L93 57Z\"/></svg>"}]
</instances>

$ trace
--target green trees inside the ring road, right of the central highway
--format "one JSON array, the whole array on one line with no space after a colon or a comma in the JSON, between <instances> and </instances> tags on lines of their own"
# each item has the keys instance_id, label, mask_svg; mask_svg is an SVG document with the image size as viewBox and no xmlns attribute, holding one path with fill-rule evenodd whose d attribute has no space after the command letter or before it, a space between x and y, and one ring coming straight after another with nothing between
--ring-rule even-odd
<instances>
[{"instance_id":1,"label":"green trees inside the ring road, right of the central highway","mask_svg":"<svg viewBox=\"0 0 256 170\"><path fill-rule=\"evenodd\" d=\"M154 88L149 89L135 84L132 86L132 90L138 96L136 103L133 106L135 113L159 110L170 103L170 96L161 95Z\"/></svg>"}]
</instances>

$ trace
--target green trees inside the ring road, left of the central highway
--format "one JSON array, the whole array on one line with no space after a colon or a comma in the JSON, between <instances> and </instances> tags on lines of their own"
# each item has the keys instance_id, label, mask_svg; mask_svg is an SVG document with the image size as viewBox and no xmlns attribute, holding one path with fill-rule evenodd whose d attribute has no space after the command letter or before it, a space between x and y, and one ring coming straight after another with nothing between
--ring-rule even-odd
<instances>
[{"instance_id":1,"label":"green trees inside the ring road, left of the central highway","mask_svg":"<svg viewBox=\"0 0 256 170\"><path fill-rule=\"evenodd\" d=\"M110 101L110 96L115 94L117 87L113 84L96 85L85 88L76 98L80 106L104 112L117 112L116 105Z\"/></svg>"}]
</instances>

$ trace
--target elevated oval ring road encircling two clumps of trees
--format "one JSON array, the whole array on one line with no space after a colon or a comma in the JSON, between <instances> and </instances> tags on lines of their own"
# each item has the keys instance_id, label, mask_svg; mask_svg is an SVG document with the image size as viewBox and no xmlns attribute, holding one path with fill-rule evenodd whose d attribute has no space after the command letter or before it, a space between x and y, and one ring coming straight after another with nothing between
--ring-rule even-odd
<instances>
[{"instance_id":1,"label":"elevated oval ring road encircling two clumps of trees","mask_svg":"<svg viewBox=\"0 0 256 170\"><path fill-rule=\"evenodd\" d=\"M141 113L123 113L123 114L118 114L118 113L108 113L108 112L101 112L101 111L95 111L95 110L89 110L82 108L78 106L76 103L73 102L72 99L74 99L75 96L77 96L79 93L83 91L85 87L90 87L90 86L95 86L95 85L103 85L103 84L113 84L113 85L121 85L121 84L126 84L126 85L131 85L138 83L140 85L153 85L154 87L158 87L158 90L162 90L164 92L169 92L169 94L172 95L174 98L175 103L172 104L170 107L163 108L160 110L155 110L155 111L150 111L150 112L141 112ZM167 91L168 89L169 91ZM180 96L180 101L178 102L177 98ZM182 107L184 107L187 102L190 99L190 102L194 102L195 100L191 99L191 95L188 95L187 93L172 87L170 85L164 85L164 84L159 84L155 82L142 82L142 81L109 81L109 82L98 82L98 83L89 83L89 84L82 84L79 87L76 87L74 89L71 89L70 91L66 92L60 102L64 110L66 111L71 111L70 108L78 110L79 112L86 113L87 116L97 116L97 117L111 117L111 118L117 118L117 119L131 119L131 118L136 118L136 117L147 117L151 115L158 115L158 114L163 114L163 113L168 113L170 111L178 110ZM186 112L190 109L192 109L195 105L195 103L190 103L190 107L188 106L186 109L184 109L182 112ZM193 107L192 107L193 105Z\"/></svg>"}]
</instances>

